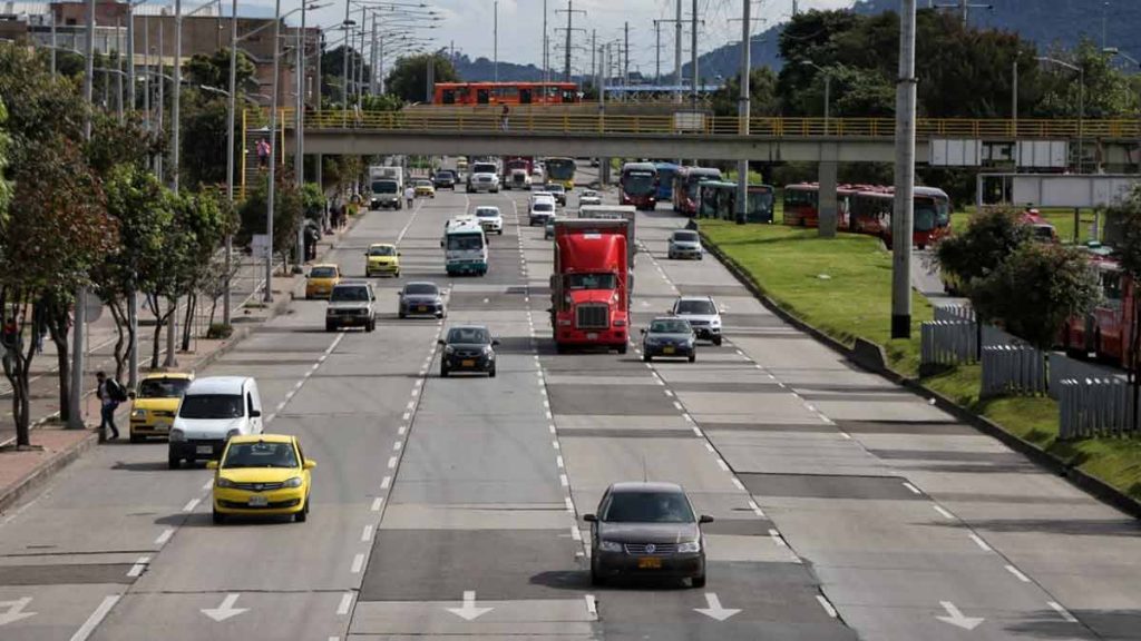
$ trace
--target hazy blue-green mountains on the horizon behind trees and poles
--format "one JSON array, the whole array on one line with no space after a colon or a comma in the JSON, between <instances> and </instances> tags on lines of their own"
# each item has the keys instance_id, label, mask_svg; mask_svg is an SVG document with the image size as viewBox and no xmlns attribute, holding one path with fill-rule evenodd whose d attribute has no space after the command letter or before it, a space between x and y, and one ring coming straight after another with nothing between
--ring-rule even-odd
<instances>
[{"instance_id":1,"label":"hazy blue-green mountains on the horizon behind trees and poles","mask_svg":"<svg viewBox=\"0 0 1141 641\"><path fill-rule=\"evenodd\" d=\"M919 0L926 7L930 0ZM1037 43L1039 51L1060 46L1069 48L1083 36L1101 43L1102 3L1095 0L990 0L994 9L971 9L971 26L1000 29L1017 32L1026 40ZM949 3L939 0L938 3ZM852 10L859 14L881 14L899 9L899 0L859 0ZM763 15L761 17L764 17ZM1141 1L1114 0L1110 3L1106 26L1106 46L1118 47L1134 58L1141 58ZM777 25L753 36L751 51L753 66L770 66L779 70L778 42L784 25ZM475 60L463 55L456 56L456 71L464 80L491 80L493 64L487 58ZM726 44L702 55L697 62L703 81L731 78L741 67L741 44ZM689 75L690 65L682 65L682 74ZM499 64L499 78L503 81L542 80L543 72L535 65ZM561 75L552 78L561 80ZM577 76L575 78L577 80ZM673 82L672 73L663 78Z\"/></svg>"}]
</instances>

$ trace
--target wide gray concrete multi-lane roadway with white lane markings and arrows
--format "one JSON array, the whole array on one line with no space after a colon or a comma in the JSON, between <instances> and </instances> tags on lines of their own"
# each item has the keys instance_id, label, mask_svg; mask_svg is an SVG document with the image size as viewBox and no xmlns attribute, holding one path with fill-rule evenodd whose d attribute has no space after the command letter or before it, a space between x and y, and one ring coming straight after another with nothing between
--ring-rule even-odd
<instances>
[{"instance_id":1,"label":"wide gray concrete multi-lane roadway with white lane markings and arrows","mask_svg":"<svg viewBox=\"0 0 1141 641\"><path fill-rule=\"evenodd\" d=\"M444 221L484 203L507 224L491 270L448 278ZM375 332L326 333L298 300L199 373L256 376L268 431L300 436L308 522L215 526L209 471L100 446L3 517L0 639L1141 639L1133 519L856 370L717 261L666 260L666 208L638 221L636 327L710 294L725 344L557 355L551 242L524 211L443 192L367 213L329 258L359 276L370 243L399 245ZM411 279L446 289L445 320L397 318ZM467 322L502 341L495 379L438 376L437 338ZM715 518L705 587L591 586L581 517L642 478Z\"/></svg>"}]
</instances>

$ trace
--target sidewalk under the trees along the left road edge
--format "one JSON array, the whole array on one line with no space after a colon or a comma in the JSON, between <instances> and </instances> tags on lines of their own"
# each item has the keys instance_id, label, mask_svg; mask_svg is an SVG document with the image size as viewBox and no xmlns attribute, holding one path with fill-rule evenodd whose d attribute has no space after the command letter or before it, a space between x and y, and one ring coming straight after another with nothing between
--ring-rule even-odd
<instances>
[{"instance_id":1,"label":"sidewalk under the trees along the left road edge","mask_svg":"<svg viewBox=\"0 0 1141 641\"><path fill-rule=\"evenodd\" d=\"M340 237L348 233L361 218L361 216L356 216L349 220L348 226L333 235L324 236L318 242L317 259L314 262L318 262L327 254L337 245ZM261 291L260 286L256 291ZM260 300L251 300L254 292L246 292L242 297L241 306L235 305L233 308L234 333L230 338L226 340L195 339L192 341L191 351L178 352L178 370L197 371L205 367L213 359L241 342L242 339L259 325L283 313L294 298L304 295L304 275L282 275L278 273L274 276L274 303L272 306L265 307ZM209 309L204 310L204 313L209 315ZM146 330L146 327L143 330ZM112 327L110 332L113 334L114 328ZM145 334L140 334L140 350L148 344L148 341L143 340L144 336ZM39 355L38 358L50 359L54 364L56 358L55 352L52 351L48 356L47 350L48 346L46 343L44 354ZM98 444L99 400L94 395L94 372L99 367L113 370L114 360L111 356L111 346L98 351L92 351L95 354L89 360L88 367L91 375L87 378L88 384L82 409L87 425L84 429L68 430L51 420L58 413L58 399L56 398L58 396L58 388L55 384L57 382L56 374L54 371L50 372L50 375L48 373L40 374L42 376L40 381L43 382L33 387L32 390L32 447L26 451L17 451L11 445L0 446L0 513L7 511L21 497L50 480L55 472L62 470ZM147 351L146 354L149 352ZM49 387L50 390L48 389ZM3 400L10 403L10 396ZM3 400L0 400L0 403ZM10 409L8 409L6 417L7 425L5 425L8 431L0 431L0 443L6 437L9 437L10 441L14 440L15 429L10 425ZM122 440L126 440L128 437L127 425L129 416L130 403L124 403L115 414L115 423L119 425L120 438Z\"/></svg>"}]
</instances>

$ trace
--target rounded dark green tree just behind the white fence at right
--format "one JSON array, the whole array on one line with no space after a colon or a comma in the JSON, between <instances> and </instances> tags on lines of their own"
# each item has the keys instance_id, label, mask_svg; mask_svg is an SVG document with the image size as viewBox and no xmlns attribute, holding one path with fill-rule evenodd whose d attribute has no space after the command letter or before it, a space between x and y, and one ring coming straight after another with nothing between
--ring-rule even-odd
<instances>
[{"instance_id":1,"label":"rounded dark green tree just behind the white fence at right","mask_svg":"<svg viewBox=\"0 0 1141 641\"><path fill-rule=\"evenodd\" d=\"M1025 243L971 286L979 316L1038 349L1050 349L1067 319L1085 316L1101 292L1084 252Z\"/></svg>"}]
</instances>

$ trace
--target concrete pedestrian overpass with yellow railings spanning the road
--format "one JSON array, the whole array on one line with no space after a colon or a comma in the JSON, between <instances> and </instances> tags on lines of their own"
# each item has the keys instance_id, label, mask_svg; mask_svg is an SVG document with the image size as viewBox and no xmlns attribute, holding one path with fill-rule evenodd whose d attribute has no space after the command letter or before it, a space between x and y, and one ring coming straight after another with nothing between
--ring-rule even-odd
<instances>
[{"instance_id":1,"label":"concrete pedestrian overpass with yellow railings spanning the road","mask_svg":"<svg viewBox=\"0 0 1141 641\"><path fill-rule=\"evenodd\" d=\"M248 123L267 114L248 114ZM892 162L893 119L752 117L748 133L734 116L512 114L504 127L494 112L418 109L322 112L305 117L306 154L541 155L574 157L685 157L756 162ZM266 119L267 120L267 119ZM294 148L296 121L280 119L286 154ZM919 119L916 159L926 162L932 140L1084 141L1128 148L1141 138L1136 120ZM257 127L256 124L253 125ZM249 130L249 129L248 129ZM1126 154L1119 154L1127 162ZM1103 159L1103 162L1114 162Z\"/></svg>"}]
</instances>

